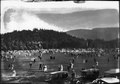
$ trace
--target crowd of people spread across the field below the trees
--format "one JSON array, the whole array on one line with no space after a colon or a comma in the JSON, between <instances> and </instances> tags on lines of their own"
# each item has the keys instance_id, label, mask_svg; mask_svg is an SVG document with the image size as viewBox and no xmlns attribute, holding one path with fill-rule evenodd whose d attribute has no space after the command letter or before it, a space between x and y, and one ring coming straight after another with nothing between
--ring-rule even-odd
<instances>
[{"instance_id":1,"label":"crowd of people spread across the field below the trees","mask_svg":"<svg viewBox=\"0 0 120 84\"><path fill-rule=\"evenodd\" d=\"M15 55L16 53L19 54L19 56L22 53L25 53L25 57L29 56L31 57L32 54L34 55L35 53L39 53L39 55L37 57L31 57L30 62L29 62L29 69L32 68L33 64L36 63L36 60L39 59L40 63L38 64L38 70L47 72L48 71L48 65L47 64L43 64L41 63L41 60L43 58L43 54L49 54L49 59L50 60L56 60L55 53L63 53L65 55L69 55L72 56L71 60L68 63L67 66L67 71L71 73L71 78L75 78L76 77L76 71L74 69L74 64L76 62L76 60L81 57L83 58L83 64L87 63L89 61L89 59L86 59L84 57L87 58L93 58L93 61L95 63L95 65L91 66L91 67L99 67L99 61L97 60L97 58L101 58L102 56L105 56L107 53L111 54L113 59L117 60L118 56L117 56L117 52L118 49L92 49L92 48L88 48L88 49L41 49L41 50L14 50L14 51L1 51L1 56L3 61L8 62L8 68L9 70L12 70L13 72L13 76L16 76L16 70L15 70L15 62L17 59L17 56ZM110 62L110 58L108 57L108 59L106 60L108 63ZM64 71L65 66L63 64L58 64L58 71ZM85 67L83 67L82 69L84 69Z\"/></svg>"}]
</instances>

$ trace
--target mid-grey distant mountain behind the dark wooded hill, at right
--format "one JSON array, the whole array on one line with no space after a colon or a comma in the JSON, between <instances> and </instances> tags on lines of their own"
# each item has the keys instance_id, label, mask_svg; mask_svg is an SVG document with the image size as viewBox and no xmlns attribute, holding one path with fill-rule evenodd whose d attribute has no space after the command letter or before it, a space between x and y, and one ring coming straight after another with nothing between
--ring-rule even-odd
<instances>
[{"instance_id":1,"label":"mid-grey distant mountain behind the dark wooded hill, at right","mask_svg":"<svg viewBox=\"0 0 120 84\"><path fill-rule=\"evenodd\" d=\"M118 29L114 28L94 28L92 30L88 29L77 29L67 31L67 34L75 36L77 38L84 39L102 39L105 41L114 40L118 37ZM120 32L120 31L119 31Z\"/></svg>"}]
</instances>

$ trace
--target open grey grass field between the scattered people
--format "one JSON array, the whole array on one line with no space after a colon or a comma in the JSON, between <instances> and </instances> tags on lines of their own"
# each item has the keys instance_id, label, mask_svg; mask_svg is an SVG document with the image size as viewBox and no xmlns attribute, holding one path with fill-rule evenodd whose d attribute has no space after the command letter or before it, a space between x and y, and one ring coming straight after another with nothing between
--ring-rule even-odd
<instances>
[{"instance_id":1,"label":"open grey grass field between the scattered people","mask_svg":"<svg viewBox=\"0 0 120 84\"><path fill-rule=\"evenodd\" d=\"M117 68L117 59L114 59L113 54L116 55L117 53L115 52L109 52L109 53L103 53L100 57L98 56L78 56L78 58L75 58L75 63L74 63L74 69L77 74L77 76L80 76L81 69L82 68L91 68L93 65L96 65L94 62L94 59L96 59L99 62L98 68L100 69L100 75L104 74L104 71L107 71L112 68ZM44 72L39 70L39 64L45 64L48 66L48 72L51 71L56 71L58 70L58 65L62 64L64 67L64 70L67 70L67 65L70 63L70 60L73 58L72 55L70 54L64 54L61 52L57 52L54 54L51 53L44 53L42 56L42 59L40 60L38 56L40 55L39 52L31 52L31 55L26 56L26 53L23 51L21 53L16 52L14 54L15 62L12 60L6 61L3 60L1 61L1 71L2 71L2 79L4 82L13 82L13 81L8 81L6 77L11 76L13 74L12 70L8 69L8 64L13 63L14 64L14 69L17 72L17 76L31 76L29 81L32 82L39 82L39 84L44 84L41 82L44 78ZM50 55L55 56L55 60L50 59ZM33 63L31 69L29 67L29 63L31 61L31 58L35 57L36 62ZM109 58L109 62L108 62ZM83 60L86 59L88 60L87 63L83 63ZM39 79L34 79L34 77L39 77ZM40 78L41 77L41 78ZM22 77L21 77L22 78ZM20 79L19 79L20 80ZM17 80L14 80L14 82L18 82ZM41 83L40 83L41 82Z\"/></svg>"}]
</instances>

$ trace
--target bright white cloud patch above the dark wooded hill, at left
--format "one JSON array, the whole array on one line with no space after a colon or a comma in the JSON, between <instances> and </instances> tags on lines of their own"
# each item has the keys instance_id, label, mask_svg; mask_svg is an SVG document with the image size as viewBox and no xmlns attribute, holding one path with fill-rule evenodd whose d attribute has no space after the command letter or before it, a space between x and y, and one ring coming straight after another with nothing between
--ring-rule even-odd
<instances>
[{"instance_id":1,"label":"bright white cloud patch above the dark wooded hill, at left","mask_svg":"<svg viewBox=\"0 0 120 84\"><path fill-rule=\"evenodd\" d=\"M33 28L52 29L56 31L63 31L62 28L53 24L49 24L33 13L26 12L24 10L17 10L9 14L9 22L6 22L6 28L2 30L4 32L12 32L14 30L32 30Z\"/></svg>"}]
</instances>

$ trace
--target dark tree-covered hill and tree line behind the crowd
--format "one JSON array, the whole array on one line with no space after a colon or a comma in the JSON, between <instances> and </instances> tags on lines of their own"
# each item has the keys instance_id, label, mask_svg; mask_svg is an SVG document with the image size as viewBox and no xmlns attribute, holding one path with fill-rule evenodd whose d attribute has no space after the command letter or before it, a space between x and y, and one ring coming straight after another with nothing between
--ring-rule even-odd
<instances>
[{"instance_id":1,"label":"dark tree-covered hill and tree line behind the crowd","mask_svg":"<svg viewBox=\"0 0 120 84\"><path fill-rule=\"evenodd\" d=\"M1 50L35 50L51 48L116 48L116 40L79 39L53 30L33 29L1 34Z\"/></svg>"}]
</instances>

